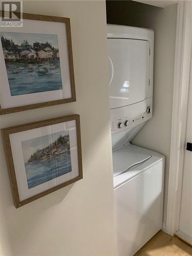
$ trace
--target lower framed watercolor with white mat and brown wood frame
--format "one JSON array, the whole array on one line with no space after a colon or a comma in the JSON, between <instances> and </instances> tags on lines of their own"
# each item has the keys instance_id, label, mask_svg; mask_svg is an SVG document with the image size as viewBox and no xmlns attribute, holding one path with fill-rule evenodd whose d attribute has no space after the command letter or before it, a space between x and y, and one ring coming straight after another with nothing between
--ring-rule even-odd
<instances>
[{"instance_id":1,"label":"lower framed watercolor with white mat and brown wood frame","mask_svg":"<svg viewBox=\"0 0 192 256\"><path fill-rule=\"evenodd\" d=\"M16 208L82 179L79 115L2 129Z\"/></svg>"}]
</instances>

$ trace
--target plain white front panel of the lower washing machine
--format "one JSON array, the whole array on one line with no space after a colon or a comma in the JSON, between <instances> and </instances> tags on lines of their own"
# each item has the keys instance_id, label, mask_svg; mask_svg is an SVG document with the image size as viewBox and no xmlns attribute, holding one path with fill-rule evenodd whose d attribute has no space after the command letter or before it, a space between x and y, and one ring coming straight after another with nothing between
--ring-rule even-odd
<instances>
[{"instance_id":1,"label":"plain white front panel of the lower washing machine","mask_svg":"<svg viewBox=\"0 0 192 256\"><path fill-rule=\"evenodd\" d=\"M117 255L133 256L162 228L164 161L114 190Z\"/></svg>"}]
</instances>

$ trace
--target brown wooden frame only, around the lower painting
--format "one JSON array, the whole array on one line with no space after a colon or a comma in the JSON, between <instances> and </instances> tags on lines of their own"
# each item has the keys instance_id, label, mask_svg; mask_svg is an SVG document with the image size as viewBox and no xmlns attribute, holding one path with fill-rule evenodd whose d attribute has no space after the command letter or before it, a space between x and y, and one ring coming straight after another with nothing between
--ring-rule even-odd
<instances>
[{"instance_id":1,"label":"brown wooden frame only, around the lower painting","mask_svg":"<svg viewBox=\"0 0 192 256\"><path fill-rule=\"evenodd\" d=\"M79 176L69 180L67 182L64 182L62 184L59 184L53 188L50 188L46 191L43 191L42 193L32 196L24 201L20 201L19 199L19 194L18 194L18 187L17 187L17 181L16 181L16 175L15 175L15 168L14 168L14 162L13 162L13 156L12 156L12 151L11 151L11 143L10 143L10 138L9 135L13 133L18 133L18 132L23 132L47 125L53 125L57 123L62 123L62 122L68 122L68 121L76 121L76 133L77 133L77 151L78 151L78 169L79 169ZM28 123L28 124L23 124L23 125L18 125L18 126L13 126L13 127L8 127L5 129L2 129L2 135L3 135L3 141L4 141L4 147L5 147L5 153L6 153L6 158L7 158L7 165L8 165L8 172L9 172L9 178L10 178L10 183L11 183L11 190L12 190L12 196L13 196L13 202L16 208L23 206L25 204L28 204L40 197L46 196L53 191L60 189L62 187L65 187L75 181L78 181L83 178L82 175L82 157L81 157L81 138L80 138L80 118L79 115L70 115L70 116L65 116L65 117L58 117L58 118L53 118L49 120L44 120L44 121L38 121L38 122L33 122L33 123Z\"/></svg>"}]
</instances>

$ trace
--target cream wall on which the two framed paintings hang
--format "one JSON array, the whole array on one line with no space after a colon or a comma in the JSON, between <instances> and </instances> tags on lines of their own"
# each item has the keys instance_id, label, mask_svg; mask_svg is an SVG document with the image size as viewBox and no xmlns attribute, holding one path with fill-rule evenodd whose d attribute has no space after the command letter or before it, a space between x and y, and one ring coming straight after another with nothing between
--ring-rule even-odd
<instances>
[{"instance_id":1,"label":"cream wall on which the two framed paintings hang","mask_svg":"<svg viewBox=\"0 0 192 256\"><path fill-rule=\"evenodd\" d=\"M27 1L71 18L77 102L1 117L1 127L80 114L84 178L15 209L0 144L1 256L115 255L106 18L103 1Z\"/></svg>"}]
</instances>

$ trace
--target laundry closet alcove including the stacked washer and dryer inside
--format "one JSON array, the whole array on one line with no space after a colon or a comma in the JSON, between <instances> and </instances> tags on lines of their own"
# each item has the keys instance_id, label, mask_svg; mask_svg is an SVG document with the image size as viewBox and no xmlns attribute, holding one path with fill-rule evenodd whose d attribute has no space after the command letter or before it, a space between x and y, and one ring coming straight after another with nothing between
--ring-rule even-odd
<instances>
[{"instance_id":1,"label":"laundry closet alcove including the stacked washer and dryer inside","mask_svg":"<svg viewBox=\"0 0 192 256\"><path fill-rule=\"evenodd\" d=\"M106 1L118 255L166 228L177 5L162 7Z\"/></svg>"}]
</instances>

